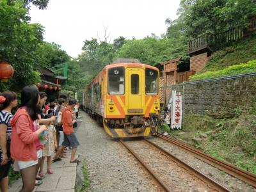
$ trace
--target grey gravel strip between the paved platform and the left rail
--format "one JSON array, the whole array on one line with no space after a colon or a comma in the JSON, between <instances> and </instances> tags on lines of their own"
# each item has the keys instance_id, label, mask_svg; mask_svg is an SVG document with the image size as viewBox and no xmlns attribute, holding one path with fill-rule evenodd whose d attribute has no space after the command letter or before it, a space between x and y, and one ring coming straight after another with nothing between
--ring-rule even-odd
<instances>
[{"instance_id":1,"label":"grey gravel strip between the paved platform and the left rail","mask_svg":"<svg viewBox=\"0 0 256 192\"><path fill-rule=\"evenodd\" d=\"M127 149L83 111L76 132L78 153L88 165L88 191L163 191Z\"/></svg>"}]
</instances>

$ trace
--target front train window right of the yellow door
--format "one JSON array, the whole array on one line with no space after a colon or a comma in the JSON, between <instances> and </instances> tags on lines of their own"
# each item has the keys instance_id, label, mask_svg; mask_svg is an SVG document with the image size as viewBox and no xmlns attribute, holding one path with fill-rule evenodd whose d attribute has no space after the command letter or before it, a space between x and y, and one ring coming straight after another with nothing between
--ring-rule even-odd
<instances>
[{"instance_id":1,"label":"front train window right of the yellow door","mask_svg":"<svg viewBox=\"0 0 256 192\"><path fill-rule=\"evenodd\" d=\"M147 95L158 93L158 72L151 68L145 70L145 91Z\"/></svg>"}]
</instances>

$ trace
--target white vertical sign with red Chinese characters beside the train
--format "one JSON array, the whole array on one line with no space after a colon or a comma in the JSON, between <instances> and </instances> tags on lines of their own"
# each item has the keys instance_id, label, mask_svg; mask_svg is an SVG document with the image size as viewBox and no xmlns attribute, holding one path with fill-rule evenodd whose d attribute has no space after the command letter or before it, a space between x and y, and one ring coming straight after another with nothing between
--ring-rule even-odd
<instances>
[{"instance_id":1,"label":"white vertical sign with red Chinese characters beside the train","mask_svg":"<svg viewBox=\"0 0 256 192\"><path fill-rule=\"evenodd\" d=\"M182 122L182 95L172 91L172 129L181 129Z\"/></svg>"}]
</instances>

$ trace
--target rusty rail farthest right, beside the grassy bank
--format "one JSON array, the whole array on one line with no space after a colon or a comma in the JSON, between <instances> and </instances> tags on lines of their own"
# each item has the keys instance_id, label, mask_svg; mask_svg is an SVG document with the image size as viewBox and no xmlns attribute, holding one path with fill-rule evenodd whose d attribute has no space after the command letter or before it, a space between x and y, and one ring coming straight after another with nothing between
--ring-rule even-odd
<instances>
[{"instance_id":1,"label":"rusty rail farthest right, beside the grassy bank","mask_svg":"<svg viewBox=\"0 0 256 192\"><path fill-rule=\"evenodd\" d=\"M209 156L208 154L204 154L204 152L201 152L200 150L194 147L190 147L185 143L181 143L180 141L175 140L173 138L169 138L168 136L164 136L163 134L156 133L156 136L170 143L173 143L174 145L177 145L177 147L180 147L188 151L189 153L193 154L193 156L204 161L205 163L211 164L212 166L215 166L216 168L223 170L224 172L236 177L237 179L243 180L244 182L256 188L256 175L249 172L245 172L244 170L237 168L233 164L220 161L215 157Z\"/></svg>"}]
</instances>

